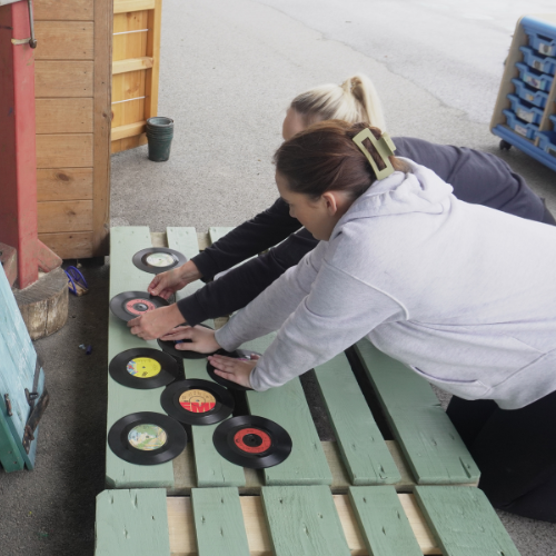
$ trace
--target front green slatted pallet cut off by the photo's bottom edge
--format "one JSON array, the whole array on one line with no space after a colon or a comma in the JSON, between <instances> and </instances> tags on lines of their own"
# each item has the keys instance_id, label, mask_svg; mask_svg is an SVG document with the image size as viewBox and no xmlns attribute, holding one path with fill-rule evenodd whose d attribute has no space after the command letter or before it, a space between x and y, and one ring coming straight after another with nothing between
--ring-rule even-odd
<instances>
[{"instance_id":1,"label":"front green slatted pallet cut off by the photo's bottom edge","mask_svg":"<svg viewBox=\"0 0 556 556\"><path fill-rule=\"evenodd\" d=\"M107 490L97 498L96 556L519 556L473 487L234 487Z\"/></svg>"}]
</instances>

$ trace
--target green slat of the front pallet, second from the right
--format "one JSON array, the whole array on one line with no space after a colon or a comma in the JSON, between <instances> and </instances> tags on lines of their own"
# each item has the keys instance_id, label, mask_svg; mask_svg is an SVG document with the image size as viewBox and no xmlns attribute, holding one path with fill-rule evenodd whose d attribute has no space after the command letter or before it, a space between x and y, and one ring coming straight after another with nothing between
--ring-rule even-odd
<instances>
[{"instance_id":1,"label":"green slat of the front pallet, second from the right","mask_svg":"<svg viewBox=\"0 0 556 556\"><path fill-rule=\"evenodd\" d=\"M349 500L368 554L423 556L394 487L350 487Z\"/></svg>"}]
</instances>

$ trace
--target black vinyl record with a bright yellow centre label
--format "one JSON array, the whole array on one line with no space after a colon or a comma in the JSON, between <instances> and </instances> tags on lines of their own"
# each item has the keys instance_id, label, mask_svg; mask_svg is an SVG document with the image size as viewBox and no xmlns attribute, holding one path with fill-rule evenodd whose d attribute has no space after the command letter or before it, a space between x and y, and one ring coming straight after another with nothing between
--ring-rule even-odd
<instances>
[{"instance_id":1,"label":"black vinyl record with a bright yellow centre label","mask_svg":"<svg viewBox=\"0 0 556 556\"><path fill-rule=\"evenodd\" d=\"M180 377L176 359L152 348L127 349L110 361L108 370L117 383L139 390L167 386Z\"/></svg>"}]
</instances>

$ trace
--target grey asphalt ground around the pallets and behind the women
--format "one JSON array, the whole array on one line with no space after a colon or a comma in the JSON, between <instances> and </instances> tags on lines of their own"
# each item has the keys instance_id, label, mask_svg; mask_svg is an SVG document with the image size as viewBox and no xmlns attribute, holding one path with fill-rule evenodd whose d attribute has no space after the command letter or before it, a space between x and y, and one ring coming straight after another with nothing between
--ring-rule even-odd
<instances>
[{"instance_id":1,"label":"grey asphalt ground around the pallets and behind the women","mask_svg":"<svg viewBox=\"0 0 556 556\"><path fill-rule=\"evenodd\" d=\"M176 121L171 158L147 148L112 157L112 226L236 226L277 197L271 156L297 93L363 71L390 135L495 152L556 214L555 173L490 135L512 29L547 2L167 0L159 115ZM67 261L75 264L76 261ZM92 555L95 496L103 489L109 259L82 269L88 296L36 342L50 406L33 471L0 471L0 555ZM146 285L148 278L146 279ZM79 345L92 346L87 356ZM319 433L329 435L310 377ZM447 396L440 396L443 405ZM556 528L498 514L523 556L556 555Z\"/></svg>"}]
</instances>

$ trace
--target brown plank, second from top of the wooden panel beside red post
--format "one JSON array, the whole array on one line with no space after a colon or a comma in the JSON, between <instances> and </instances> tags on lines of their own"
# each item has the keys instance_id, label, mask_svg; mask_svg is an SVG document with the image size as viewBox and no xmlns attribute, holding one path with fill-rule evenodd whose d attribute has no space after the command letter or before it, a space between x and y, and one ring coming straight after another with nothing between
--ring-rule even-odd
<instances>
[{"instance_id":1,"label":"brown plank, second from top of the wooden panel beside red post","mask_svg":"<svg viewBox=\"0 0 556 556\"><path fill-rule=\"evenodd\" d=\"M34 34L37 60L93 59L92 21L37 21Z\"/></svg>"}]
</instances>

